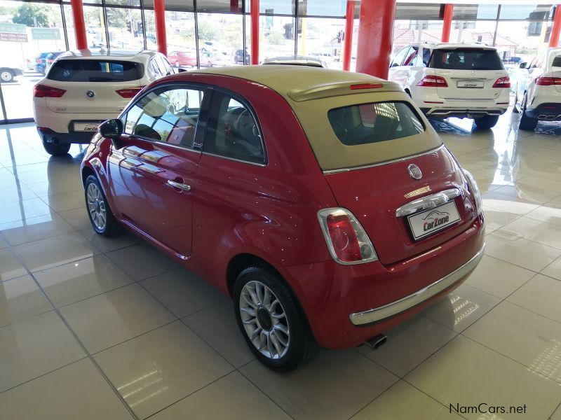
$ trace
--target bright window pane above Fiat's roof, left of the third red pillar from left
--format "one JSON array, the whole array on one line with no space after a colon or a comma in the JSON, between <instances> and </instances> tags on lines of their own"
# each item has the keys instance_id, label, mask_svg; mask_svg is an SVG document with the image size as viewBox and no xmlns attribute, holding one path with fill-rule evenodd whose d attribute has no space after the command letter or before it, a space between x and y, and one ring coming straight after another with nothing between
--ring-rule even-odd
<instances>
[{"instance_id":1,"label":"bright window pane above Fiat's roof, left of the third red pillar from left","mask_svg":"<svg viewBox=\"0 0 561 420\"><path fill-rule=\"evenodd\" d=\"M243 15L199 13L197 19L201 66L243 64Z\"/></svg>"}]
</instances>

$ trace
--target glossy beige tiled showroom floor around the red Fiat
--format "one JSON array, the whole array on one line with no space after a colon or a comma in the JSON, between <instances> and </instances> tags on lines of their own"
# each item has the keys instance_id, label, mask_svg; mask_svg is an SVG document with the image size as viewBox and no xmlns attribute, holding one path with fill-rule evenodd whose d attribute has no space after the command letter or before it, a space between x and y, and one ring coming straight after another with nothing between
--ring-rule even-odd
<instances>
[{"instance_id":1,"label":"glossy beige tiled showroom floor around the red Fiat","mask_svg":"<svg viewBox=\"0 0 561 420\"><path fill-rule=\"evenodd\" d=\"M377 351L257 363L227 297L132 235L90 229L80 148L0 128L3 419L561 420L561 126L435 125L485 192L471 278ZM450 405L526 406L450 414Z\"/></svg>"}]
</instances>

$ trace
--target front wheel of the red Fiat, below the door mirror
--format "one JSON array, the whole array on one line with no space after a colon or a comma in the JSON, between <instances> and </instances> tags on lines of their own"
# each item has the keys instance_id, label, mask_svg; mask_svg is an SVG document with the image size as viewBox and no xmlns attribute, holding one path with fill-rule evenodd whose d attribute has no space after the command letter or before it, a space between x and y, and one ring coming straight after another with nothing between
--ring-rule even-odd
<instances>
[{"instance_id":1,"label":"front wheel of the red Fiat, below the door mirror","mask_svg":"<svg viewBox=\"0 0 561 420\"><path fill-rule=\"evenodd\" d=\"M90 175L86 178L83 188L88 218L97 235L112 237L121 233L121 223L113 215L100 181L97 181L95 176Z\"/></svg>"}]
</instances>

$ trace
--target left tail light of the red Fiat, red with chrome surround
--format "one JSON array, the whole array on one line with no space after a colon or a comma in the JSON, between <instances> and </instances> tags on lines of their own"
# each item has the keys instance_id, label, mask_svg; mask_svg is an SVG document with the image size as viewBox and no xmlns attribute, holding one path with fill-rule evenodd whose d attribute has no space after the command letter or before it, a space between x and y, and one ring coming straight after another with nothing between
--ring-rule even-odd
<instances>
[{"instance_id":1,"label":"left tail light of the red Fiat, red with chrome surround","mask_svg":"<svg viewBox=\"0 0 561 420\"><path fill-rule=\"evenodd\" d=\"M346 209L318 212L323 236L332 258L339 264L358 264L378 260L374 246L356 217Z\"/></svg>"}]
</instances>

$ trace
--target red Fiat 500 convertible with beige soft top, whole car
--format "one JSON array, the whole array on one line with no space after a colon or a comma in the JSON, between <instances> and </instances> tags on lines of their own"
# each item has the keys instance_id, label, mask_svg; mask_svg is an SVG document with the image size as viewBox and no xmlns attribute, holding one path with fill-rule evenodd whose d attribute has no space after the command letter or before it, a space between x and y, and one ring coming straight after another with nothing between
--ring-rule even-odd
<instances>
[{"instance_id":1,"label":"red Fiat 500 convertible with beige soft top, whole car","mask_svg":"<svg viewBox=\"0 0 561 420\"><path fill-rule=\"evenodd\" d=\"M234 300L275 370L356 346L459 286L482 202L397 85L288 66L181 73L100 126L93 228L126 226Z\"/></svg>"}]
</instances>

